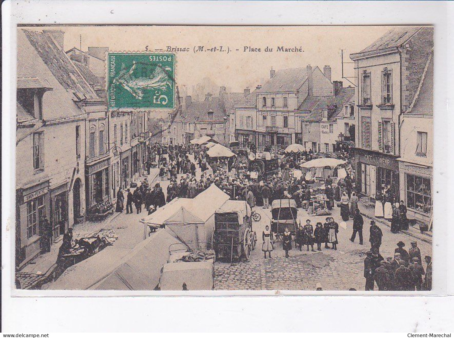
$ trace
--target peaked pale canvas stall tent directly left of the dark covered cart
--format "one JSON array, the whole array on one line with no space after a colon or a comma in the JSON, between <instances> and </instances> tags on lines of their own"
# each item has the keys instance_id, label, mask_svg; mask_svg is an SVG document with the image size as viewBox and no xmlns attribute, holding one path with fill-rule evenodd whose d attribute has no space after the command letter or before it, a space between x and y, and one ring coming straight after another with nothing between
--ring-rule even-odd
<instances>
[{"instance_id":1,"label":"peaked pale canvas stall tent directly left of the dark covered cart","mask_svg":"<svg viewBox=\"0 0 454 338\"><path fill-rule=\"evenodd\" d=\"M212 184L194 198L174 199L141 222L146 226L165 226L190 249L206 248L212 242L214 213L229 198Z\"/></svg>"}]
</instances>

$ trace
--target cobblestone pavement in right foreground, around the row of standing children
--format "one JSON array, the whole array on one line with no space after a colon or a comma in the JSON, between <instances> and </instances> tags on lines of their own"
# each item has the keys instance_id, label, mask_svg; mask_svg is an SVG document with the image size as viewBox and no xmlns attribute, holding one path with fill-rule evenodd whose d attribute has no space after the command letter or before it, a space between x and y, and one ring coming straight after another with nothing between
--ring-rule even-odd
<instances>
[{"instance_id":1,"label":"cobblestone pavement in right foreground, around the row of standing children","mask_svg":"<svg viewBox=\"0 0 454 338\"><path fill-rule=\"evenodd\" d=\"M361 206L360 206L361 208ZM361 208L362 209L362 208ZM275 243L272 258L264 259L262 252L262 231L269 224L270 209L256 207L262 215L260 222L254 222L253 229L257 231L257 247L252 251L248 262L217 261L215 263L215 288L217 290L315 290L316 284L321 283L323 290L348 290L355 288L364 290L365 252L370 249L369 226L370 219L364 217L364 245L359 245L358 237L355 243L350 242L353 220L347 222L347 229L339 228L339 244L337 250L325 249L317 252L295 249L290 251L290 258L285 258L281 243ZM334 219L340 223L340 210L333 210ZM304 209L298 209L298 219L304 224L310 219L315 226L317 221L324 222L326 216L307 216ZM380 254L383 257L392 257L396 243L405 242L405 249L410 247L414 237L407 234L392 234L390 228L379 224L383 231ZM429 243L417 240L421 255L431 255ZM316 248L316 245L315 245ZM425 267L425 266L424 266Z\"/></svg>"}]
</instances>

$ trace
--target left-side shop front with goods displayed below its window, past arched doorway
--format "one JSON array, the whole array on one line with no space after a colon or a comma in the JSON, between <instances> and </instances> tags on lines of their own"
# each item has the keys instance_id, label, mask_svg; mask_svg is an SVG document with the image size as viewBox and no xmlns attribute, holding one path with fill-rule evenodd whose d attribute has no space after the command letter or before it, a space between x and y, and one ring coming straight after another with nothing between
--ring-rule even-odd
<instances>
[{"instance_id":1,"label":"left-side shop front with goods displayed below its window, past arched doorway","mask_svg":"<svg viewBox=\"0 0 454 338\"><path fill-rule=\"evenodd\" d=\"M87 182L87 210L109 200L110 158L85 165Z\"/></svg>"}]
</instances>

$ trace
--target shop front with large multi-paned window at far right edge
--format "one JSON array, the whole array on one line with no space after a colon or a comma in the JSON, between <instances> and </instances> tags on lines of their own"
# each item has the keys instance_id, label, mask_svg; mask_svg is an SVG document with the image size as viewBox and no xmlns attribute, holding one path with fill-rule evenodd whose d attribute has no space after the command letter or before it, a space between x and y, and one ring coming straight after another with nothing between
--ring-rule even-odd
<instances>
[{"instance_id":1,"label":"shop front with large multi-paned window at far right edge","mask_svg":"<svg viewBox=\"0 0 454 338\"><path fill-rule=\"evenodd\" d=\"M429 224L432 212L432 167L400 161L400 196L407 217Z\"/></svg>"}]
</instances>

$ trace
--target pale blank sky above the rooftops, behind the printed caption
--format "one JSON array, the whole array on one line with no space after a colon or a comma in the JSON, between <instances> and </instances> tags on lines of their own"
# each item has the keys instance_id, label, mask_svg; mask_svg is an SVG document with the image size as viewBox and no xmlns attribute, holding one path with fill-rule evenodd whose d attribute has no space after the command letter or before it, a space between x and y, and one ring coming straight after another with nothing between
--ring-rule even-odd
<instances>
[{"instance_id":1,"label":"pale blank sky above the rooftops, behind the printed caption","mask_svg":"<svg viewBox=\"0 0 454 338\"><path fill-rule=\"evenodd\" d=\"M341 79L341 49L344 61L359 52L391 26L52 26L29 29L64 31L64 49L109 47L110 51L145 51L167 46L188 48L176 54L176 80L188 88L211 78L233 92L255 88L275 70L330 65L332 80ZM194 46L216 47L230 52L197 52ZM265 52L266 47L273 49ZM276 48L301 48L301 52L278 52ZM261 51L244 51L244 47ZM238 50L237 50L238 49ZM353 64L344 65L344 75L353 76ZM344 86L349 83L344 79Z\"/></svg>"}]
</instances>

